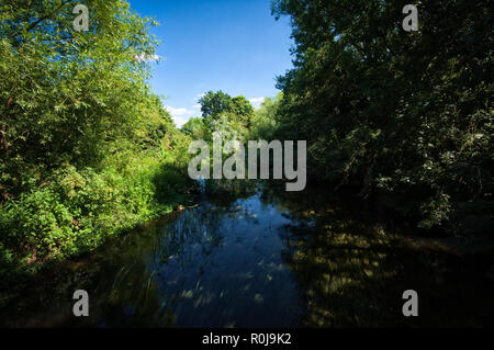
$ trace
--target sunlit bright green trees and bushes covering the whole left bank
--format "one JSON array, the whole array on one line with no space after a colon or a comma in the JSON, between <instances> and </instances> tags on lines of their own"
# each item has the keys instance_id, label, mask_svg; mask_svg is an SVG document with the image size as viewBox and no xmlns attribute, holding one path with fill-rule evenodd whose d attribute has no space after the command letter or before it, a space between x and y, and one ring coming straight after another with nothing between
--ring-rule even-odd
<instances>
[{"instance_id":1,"label":"sunlit bright green trees and bushes covering the whole left bank","mask_svg":"<svg viewBox=\"0 0 494 350\"><path fill-rule=\"evenodd\" d=\"M80 2L80 1L79 1ZM0 2L0 264L87 251L168 211L187 182L187 137L146 79L150 19L123 0ZM0 301L1 303L1 301Z\"/></svg>"}]
</instances>

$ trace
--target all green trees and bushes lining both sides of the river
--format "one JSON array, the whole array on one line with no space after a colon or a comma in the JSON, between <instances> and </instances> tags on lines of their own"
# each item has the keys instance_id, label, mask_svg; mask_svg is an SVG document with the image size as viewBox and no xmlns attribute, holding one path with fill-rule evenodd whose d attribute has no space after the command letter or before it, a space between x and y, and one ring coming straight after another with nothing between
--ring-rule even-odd
<instances>
[{"instance_id":1,"label":"all green trees and bushes lining both sides of the river","mask_svg":"<svg viewBox=\"0 0 494 350\"><path fill-rule=\"evenodd\" d=\"M77 3L88 32L72 30L75 1L0 2L0 306L24 272L169 211L190 140L213 132L307 140L311 179L418 227L493 227L490 1L428 1L405 32L405 0L276 0L294 39L282 92L254 110L209 91L180 131L147 83L156 23L124 0Z\"/></svg>"}]
</instances>

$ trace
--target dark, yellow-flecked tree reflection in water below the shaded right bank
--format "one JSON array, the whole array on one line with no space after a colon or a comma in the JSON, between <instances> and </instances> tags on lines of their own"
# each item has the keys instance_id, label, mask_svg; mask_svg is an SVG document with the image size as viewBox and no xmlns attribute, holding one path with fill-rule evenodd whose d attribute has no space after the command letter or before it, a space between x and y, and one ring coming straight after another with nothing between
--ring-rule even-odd
<instances>
[{"instance_id":1,"label":"dark, yellow-flecked tree reflection in water below the shaded right bank","mask_svg":"<svg viewBox=\"0 0 494 350\"><path fill-rule=\"evenodd\" d=\"M274 196L268 191L265 200L280 210L290 208L293 222L281 234L283 258L303 290L304 325L492 324L489 290L479 291L479 283L470 284L469 275L449 271L454 259L446 253L414 247L397 232L390 234L366 217L362 208L321 190L304 196ZM402 314L402 294L409 289L419 294L419 317Z\"/></svg>"}]
</instances>

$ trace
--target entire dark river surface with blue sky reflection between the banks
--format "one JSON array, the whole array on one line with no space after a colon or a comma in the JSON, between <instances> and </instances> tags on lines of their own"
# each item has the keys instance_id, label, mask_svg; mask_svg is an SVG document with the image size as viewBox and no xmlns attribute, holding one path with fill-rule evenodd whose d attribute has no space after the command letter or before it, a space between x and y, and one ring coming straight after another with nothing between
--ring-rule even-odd
<instances>
[{"instance_id":1,"label":"entire dark river surface with blue sky reflection between the banks","mask_svg":"<svg viewBox=\"0 0 494 350\"><path fill-rule=\"evenodd\" d=\"M285 193L236 184L220 196L57 267L1 316L2 326L485 326L489 257L374 218L322 188ZM403 225L402 225L403 226ZM479 262L482 268L479 268ZM49 282L47 282L49 281ZM90 316L72 315L88 291ZM402 314L405 290L419 317Z\"/></svg>"}]
</instances>

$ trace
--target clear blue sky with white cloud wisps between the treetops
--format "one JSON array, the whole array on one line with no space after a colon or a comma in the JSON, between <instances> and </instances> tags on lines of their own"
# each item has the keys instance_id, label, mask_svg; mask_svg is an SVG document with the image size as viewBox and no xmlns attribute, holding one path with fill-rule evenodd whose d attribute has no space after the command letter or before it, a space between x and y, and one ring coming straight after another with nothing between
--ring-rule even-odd
<instances>
[{"instance_id":1,"label":"clear blue sky with white cloud wisps between the treetops","mask_svg":"<svg viewBox=\"0 0 494 350\"><path fill-rule=\"evenodd\" d=\"M200 116L198 99L209 90L243 94L259 106L273 97L276 76L292 67L289 19L274 21L270 0L130 0L160 26L161 42L149 81L177 125Z\"/></svg>"}]
</instances>

